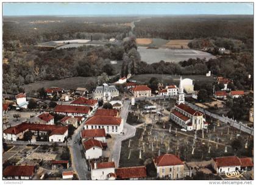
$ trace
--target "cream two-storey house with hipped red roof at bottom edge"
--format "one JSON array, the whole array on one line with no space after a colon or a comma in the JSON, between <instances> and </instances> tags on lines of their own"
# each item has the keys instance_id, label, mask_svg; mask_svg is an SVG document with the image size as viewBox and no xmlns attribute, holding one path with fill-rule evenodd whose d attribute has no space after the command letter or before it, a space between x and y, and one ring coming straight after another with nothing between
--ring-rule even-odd
<instances>
[{"instance_id":1,"label":"cream two-storey house with hipped red roof at bottom edge","mask_svg":"<svg viewBox=\"0 0 256 185\"><path fill-rule=\"evenodd\" d=\"M157 177L177 180L184 177L184 163L173 154L157 156L154 159Z\"/></svg>"}]
</instances>

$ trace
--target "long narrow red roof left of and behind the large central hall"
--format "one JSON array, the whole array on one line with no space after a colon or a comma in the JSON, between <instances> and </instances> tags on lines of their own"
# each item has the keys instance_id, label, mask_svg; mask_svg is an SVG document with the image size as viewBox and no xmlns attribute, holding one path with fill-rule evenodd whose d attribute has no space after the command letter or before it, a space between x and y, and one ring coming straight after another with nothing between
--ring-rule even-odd
<instances>
[{"instance_id":1,"label":"long narrow red roof left of and behind the large central hall","mask_svg":"<svg viewBox=\"0 0 256 185\"><path fill-rule=\"evenodd\" d=\"M90 107L88 106L75 106L75 105L57 105L54 108L57 113L79 113L88 114L90 113Z\"/></svg>"}]
</instances>

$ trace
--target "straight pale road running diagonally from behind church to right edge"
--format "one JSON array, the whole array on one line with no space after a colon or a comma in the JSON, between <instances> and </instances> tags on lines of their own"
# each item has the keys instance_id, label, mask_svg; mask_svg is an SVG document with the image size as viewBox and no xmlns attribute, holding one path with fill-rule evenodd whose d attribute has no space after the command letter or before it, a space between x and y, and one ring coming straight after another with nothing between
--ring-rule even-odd
<instances>
[{"instance_id":1,"label":"straight pale road running diagonally from behind church to right edge","mask_svg":"<svg viewBox=\"0 0 256 185\"><path fill-rule=\"evenodd\" d=\"M229 123L230 126L237 128L238 130L241 129L241 131L248 133L248 134L252 134L254 135L254 129L251 127L247 127L247 125L244 125L242 122L237 122L236 120L232 120L229 117L225 117L225 116L219 116L218 114L214 114L214 113L210 113L209 111L205 110L204 108L201 108L199 106L196 106L192 103L186 102L186 104L188 106L191 106L192 108L194 108L195 110L199 110L202 113L207 114L210 117L213 117L215 119L219 119L221 122L224 122L225 124Z\"/></svg>"}]
</instances>

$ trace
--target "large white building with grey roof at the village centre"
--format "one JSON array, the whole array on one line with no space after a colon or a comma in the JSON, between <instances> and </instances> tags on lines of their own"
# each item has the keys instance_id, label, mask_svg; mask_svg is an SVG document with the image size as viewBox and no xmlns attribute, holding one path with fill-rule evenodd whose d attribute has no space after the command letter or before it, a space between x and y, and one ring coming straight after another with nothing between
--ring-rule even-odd
<instances>
[{"instance_id":1,"label":"large white building with grey roof at the village centre","mask_svg":"<svg viewBox=\"0 0 256 185\"><path fill-rule=\"evenodd\" d=\"M97 86L93 92L93 99L109 101L113 97L119 96L119 91L115 86L108 86L107 83L104 83L103 86Z\"/></svg>"}]
</instances>

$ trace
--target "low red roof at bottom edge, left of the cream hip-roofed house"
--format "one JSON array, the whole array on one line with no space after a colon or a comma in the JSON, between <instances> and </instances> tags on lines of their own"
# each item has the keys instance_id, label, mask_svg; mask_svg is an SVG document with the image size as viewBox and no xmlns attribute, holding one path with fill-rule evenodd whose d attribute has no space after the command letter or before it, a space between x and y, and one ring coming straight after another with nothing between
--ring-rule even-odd
<instances>
[{"instance_id":1,"label":"low red roof at bottom edge, left of the cream hip-roofed house","mask_svg":"<svg viewBox=\"0 0 256 185\"><path fill-rule=\"evenodd\" d=\"M147 176L147 171L145 166L123 167L116 169L116 176L121 179L143 178Z\"/></svg>"}]
</instances>

